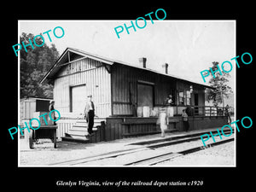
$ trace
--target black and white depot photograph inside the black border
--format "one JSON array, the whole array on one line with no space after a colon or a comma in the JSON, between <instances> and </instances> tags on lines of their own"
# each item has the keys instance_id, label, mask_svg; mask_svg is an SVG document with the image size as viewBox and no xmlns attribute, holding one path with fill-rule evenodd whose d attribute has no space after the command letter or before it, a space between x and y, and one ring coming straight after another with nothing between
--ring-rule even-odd
<instances>
[{"instance_id":1,"label":"black and white depot photograph inside the black border","mask_svg":"<svg viewBox=\"0 0 256 192\"><path fill-rule=\"evenodd\" d=\"M236 20L19 30L19 166L236 166Z\"/></svg>"}]
</instances>

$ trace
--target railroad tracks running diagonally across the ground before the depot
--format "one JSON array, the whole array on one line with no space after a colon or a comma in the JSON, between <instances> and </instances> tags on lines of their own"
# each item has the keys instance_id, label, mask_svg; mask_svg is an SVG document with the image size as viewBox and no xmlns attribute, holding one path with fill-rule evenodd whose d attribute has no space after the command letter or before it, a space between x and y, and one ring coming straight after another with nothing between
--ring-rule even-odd
<instances>
[{"instance_id":1,"label":"railroad tracks running diagonally across the ground before the depot","mask_svg":"<svg viewBox=\"0 0 256 192\"><path fill-rule=\"evenodd\" d=\"M224 131L224 132L228 132L228 131ZM212 133L214 133L214 131L212 131ZM114 151L114 152L110 152L108 154L99 154L99 155L96 155L96 156L79 158L79 159L76 159L76 160L67 160L67 161L51 164L50 166L81 166L81 165L86 166L86 164L93 165L93 163L96 162L96 161L119 158L121 156L129 155L129 154L131 154L131 155L136 154L136 153L141 154L144 151L147 151L147 150L150 150L150 149L153 149L153 150L156 151L157 148L166 148L168 146L173 146L173 145L180 144L180 143L201 141L201 137L200 137L201 135L202 135L202 133L191 135L189 137L177 137L175 140L171 140L171 139L168 138L164 141L161 140L162 142L154 141L156 143L153 143L152 141L149 141L148 142L149 144L147 144L147 142L132 143L132 144L143 144L143 146L139 146L137 148L130 148L130 149L125 149L125 150ZM231 141L234 141L234 138L229 137L229 139L224 139L224 140L221 140L221 141L216 142L216 143L210 143L210 146L212 147L212 146L215 146L215 145L219 145L219 144L227 143L227 142L231 142ZM140 160L131 160L130 162L126 162L126 163L124 163L120 166L154 166L154 165L156 165L160 162L163 162L163 161L166 161L166 160L171 160L173 158L176 158L176 157L184 155L184 154L191 154L191 153L194 153L194 152L199 151L201 149L202 149L202 143L201 143L201 145L199 145L199 146L197 145L194 148L186 148L186 149L178 151L178 152L172 152L172 150L171 151L166 150L162 154L155 154L155 155L152 155L150 157L145 157L145 158L140 159Z\"/></svg>"}]
</instances>

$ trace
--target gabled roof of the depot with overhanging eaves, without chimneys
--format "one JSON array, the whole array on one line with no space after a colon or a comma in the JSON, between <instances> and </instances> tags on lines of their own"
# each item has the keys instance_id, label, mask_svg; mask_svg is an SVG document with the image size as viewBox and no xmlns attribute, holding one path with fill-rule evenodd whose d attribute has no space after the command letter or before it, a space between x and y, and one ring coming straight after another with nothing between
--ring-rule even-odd
<instances>
[{"instance_id":1,"label":"gabled roof of the depot with overhanging eaves, without chimneys","mask_svg":"<svg viewBox=\"0 0 256 192\"><path fill-rule=\"evenodd\" d=\"M161 73L159 71L155 71L153 69L150 68L144 68L144 67L138 67L138 66L134 66L131 65L130 63L124 62L124 61L117 61L117 60L113 60L113 59L108 59L106 57L100 56L100 55L96 55L96 54L91 54L89 52L86 52L84 50L80 50L80 49L74 49L74 48L70 48L68 47L67 49L64 50L64 52L61 54L61 56L59 57L59 59L57 61L55 61L55 64L49 69L49 71L44 75L44 78L41 79L40 83L43 83L45 79L51 79L55 76L55 73L57 73L62 66L68 64L69 61L69 57L71 54L77 54L77 55L81 55L83 58L90 58L96 61L101 61L102 63L108 64L108 65L113 65L114 63L119 63L125 66L129 66L129 67L136 67L145 71L149 71L152 73L157 73L160 75L164 75L164 76L168 76L168 77L172 77L174 79L180 79L183 81L187 81L189 83L193 83L193 84L198 84L207 88L211 88L214 89L213 87L207 85L207 84L200 84L200 83L196 83L193 81L190 81L189 79L183 79L180 77L177 77L176 75L172 75L172 74L166 74L166 73Z\"/></svg>"}]
</instances>

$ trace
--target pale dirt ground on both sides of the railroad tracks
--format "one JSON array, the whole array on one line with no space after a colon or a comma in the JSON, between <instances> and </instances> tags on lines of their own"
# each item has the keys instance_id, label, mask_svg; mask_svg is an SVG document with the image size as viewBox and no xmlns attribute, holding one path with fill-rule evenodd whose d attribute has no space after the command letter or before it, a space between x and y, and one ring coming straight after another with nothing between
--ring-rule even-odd
<instances>
[{"instance_id":1,"label":"pale dirt ground on both sides of the railroad tracks","mask_svg":"<svg viewBox=\"0 0 256 192\"><path fill-rule=\"evenodd\" d=\"M187 133L167 133L166 137L183 134ZM57 143L57 148L53 148L53 143L51 143L50 140L39 140L39 143L34 144L34 149L28 148L28 143L26 143L25 139L20 139L18 161L19 166L55 166L55 164L67 160L77 160L79 158L87 158L124 149L137 148L137 145L129 144L160 138L160 134L156 134L101 143L70 143L60 141ZM192 144L193 143L183 143L181 146L173 146L173 150L178 151L183 148L183 146L188 148L191 147ZM157 166L230 166L235 163L234 153L234 142L225 143L219 146L214 146L213 148L201 150L194 154L183 155L176 159L160 163Z\"/></svg>"}]
</instances>

